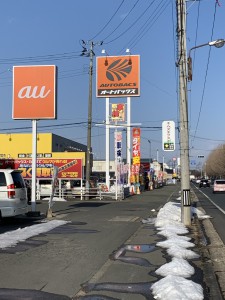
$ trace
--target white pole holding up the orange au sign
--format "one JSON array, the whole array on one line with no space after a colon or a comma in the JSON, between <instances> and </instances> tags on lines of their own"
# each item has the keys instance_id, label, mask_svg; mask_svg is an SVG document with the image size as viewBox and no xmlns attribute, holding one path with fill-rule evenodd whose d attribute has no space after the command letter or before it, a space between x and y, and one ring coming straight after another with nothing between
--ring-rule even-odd
<instances>
[{"instance_id":1,"label":"white pole holding up the orange au sign","mask_svg":"<svg viewBox=\"0 0 225 300\"><path fill-rule=\"evenodd\" d=\"M36 172L37 171L37 120L32 120L32 195L31 209L36 209Z\"/></svg>"}]
</instances>

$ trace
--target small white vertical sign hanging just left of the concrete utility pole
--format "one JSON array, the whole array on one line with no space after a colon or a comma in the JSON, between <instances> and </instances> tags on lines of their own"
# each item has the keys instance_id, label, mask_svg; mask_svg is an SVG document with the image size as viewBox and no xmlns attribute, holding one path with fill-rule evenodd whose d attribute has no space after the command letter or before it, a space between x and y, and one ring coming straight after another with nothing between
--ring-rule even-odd
<instances>
[{"instance_id":1,"label":"small white vertical sign hanging just left of the concrete utility pole","mask_svg":"<svg viewBox=\"0 0 225 300\"><path fill-rule=\"evenodd\" d=\"M175 123L163 121L162 123L162 149L164 151L175 150Z\"/></svg>"}]
</instances>

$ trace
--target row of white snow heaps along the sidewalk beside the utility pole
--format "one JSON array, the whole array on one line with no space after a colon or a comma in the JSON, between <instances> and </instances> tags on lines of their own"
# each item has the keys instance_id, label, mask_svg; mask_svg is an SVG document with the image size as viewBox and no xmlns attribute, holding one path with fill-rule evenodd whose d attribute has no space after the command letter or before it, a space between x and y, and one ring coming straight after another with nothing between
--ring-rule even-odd
<instances>
[{"instance_id":1,"label":"row of white snow heaps along the sidewalk beside the utility pole","mask_svg":"<svg viewBox=\"0 0 225 300\"><path fill-rule=\"evenodd\" d=\"M195 209L194 213L201 218L204 214ZM153 223L153 218L143 220L143 223ZM181 223L181 203L168 202L160 210L155 219L158 234L166 238L156 245L166 249L171 261L162 265L155 272L163 278L151 287L155 299L163 300L203 300L203 288L191 281L195 270L187 261L198 258L199 255L189 248L195 246L191 238L184 236L188 229Z\"/></svg>"}]
</instances>

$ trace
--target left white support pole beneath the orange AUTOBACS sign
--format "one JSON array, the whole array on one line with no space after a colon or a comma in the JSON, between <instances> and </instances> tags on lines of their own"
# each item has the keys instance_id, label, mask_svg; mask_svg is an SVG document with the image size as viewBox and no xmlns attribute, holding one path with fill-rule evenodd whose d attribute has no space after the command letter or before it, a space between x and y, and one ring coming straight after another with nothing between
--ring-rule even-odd
<instances>
[{"instance_id":1,"label":"left white support pole beneath the orange AUTOBACS sign","mask_svg":"<svg viewBox=\"0 0 225 300\"><path fill-rule=\"evenodd\" d=\"M106 138L105 138L105 183L108 188L110 189L110 178L109 178L109 98L106 98L106 107L105 107L105 119L106 119Z\"/></svg>"}]
</instances>

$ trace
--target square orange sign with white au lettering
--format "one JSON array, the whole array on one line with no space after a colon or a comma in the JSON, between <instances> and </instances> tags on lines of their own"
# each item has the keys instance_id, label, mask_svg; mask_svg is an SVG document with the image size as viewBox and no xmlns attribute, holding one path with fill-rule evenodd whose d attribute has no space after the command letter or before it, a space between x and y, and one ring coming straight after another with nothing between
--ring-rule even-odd
<instances>
[{"instance_id":1,"label":"square orange sign with white au lettering","mask_svg":"<svg viewBox=\"0 0 225 300\"><path fill-rule=\"evenodd\" d=\"M56 119L56 66L13 67L13 119Z\"/></svg>"}]
</instances>

